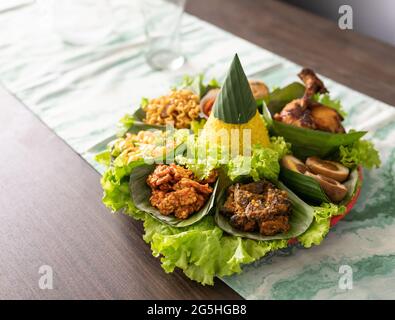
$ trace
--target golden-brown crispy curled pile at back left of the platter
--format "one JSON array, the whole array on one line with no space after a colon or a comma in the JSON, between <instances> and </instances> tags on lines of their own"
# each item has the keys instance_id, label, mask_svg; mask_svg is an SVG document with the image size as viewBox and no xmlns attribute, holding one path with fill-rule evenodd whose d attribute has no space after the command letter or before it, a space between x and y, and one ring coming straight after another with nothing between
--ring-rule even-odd
<instances>
[{"instance_id":1,"label":"golden-brown crispy curled pile at back left of the platter","mask_svg":"<svg viewBox=\"0 0 395 320\"><path fill-rule=\"evenodd\" d=\"M173 90L167 96L151 99L143 107L145 123L173 124L176 129L189 128L200 113L199 96L191 90Z\"/></svg>"}]
</instances>

